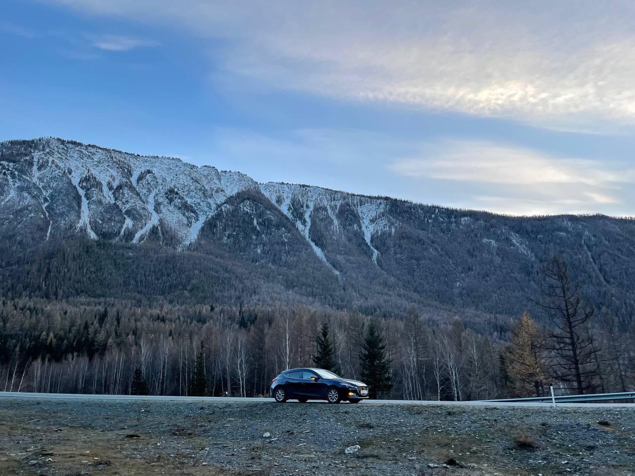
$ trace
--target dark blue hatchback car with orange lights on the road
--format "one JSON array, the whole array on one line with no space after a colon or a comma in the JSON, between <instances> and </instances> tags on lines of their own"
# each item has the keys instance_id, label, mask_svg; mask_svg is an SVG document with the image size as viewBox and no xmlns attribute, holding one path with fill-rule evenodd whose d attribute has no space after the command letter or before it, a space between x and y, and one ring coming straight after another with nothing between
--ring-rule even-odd
<instances>
[{"instance_id":1,"label":"dark blue hatchback car with orange lights on the road","mask_svg":"<svg viewBox=\"0 0 635 476\"><path fill-rule=\"evenodd\" d=\"M281 372L271 381L271 395L278 403L298 400L326 400L336 404L342 400L359 403L368 398L368 385L342 378L331 371L302 367Z\"/></svg>"}]
</instances>

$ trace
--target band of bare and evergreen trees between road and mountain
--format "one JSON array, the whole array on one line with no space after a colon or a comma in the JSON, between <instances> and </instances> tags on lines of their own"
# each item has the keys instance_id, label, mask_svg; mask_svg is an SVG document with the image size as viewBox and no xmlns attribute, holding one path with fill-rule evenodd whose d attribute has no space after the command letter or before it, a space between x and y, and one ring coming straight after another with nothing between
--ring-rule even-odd
<instances>
[{"instance_id":1,"label":"band of bare and evergreen trees between road and mountain","mask_svg":"<svg viewBox=\"0 0 635 476\"><path fill-rule=\"evenodd\" d=\"M294 303L3 298L0 389L250 397L268 395L284 369L319 364L399 399L635 388L635 326L624 329L610 310L586 302L560 258L542 274L544 315L495 322L460 312L438 319L416 307L396 317Z\"/></svg>"}]
</instances>

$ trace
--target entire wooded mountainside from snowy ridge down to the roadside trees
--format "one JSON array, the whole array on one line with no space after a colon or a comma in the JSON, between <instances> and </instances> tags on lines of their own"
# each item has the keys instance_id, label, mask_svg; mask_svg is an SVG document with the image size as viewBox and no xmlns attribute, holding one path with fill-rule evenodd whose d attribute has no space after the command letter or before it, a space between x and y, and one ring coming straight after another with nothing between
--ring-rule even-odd
<instances>
[{"instance_id":1,"label":"entire wooded mountainside from snowy ridge down to the roadside trees","mask_svg":"<svg viewBox=\"0 0 635 476\"><path fill-rule=\"evenodd\" d=\"M73 178L74 177L74 178ZM0 390L373 397L632 390L635 220L502 216L0 143Z\"/></svg>"}]
</instances>

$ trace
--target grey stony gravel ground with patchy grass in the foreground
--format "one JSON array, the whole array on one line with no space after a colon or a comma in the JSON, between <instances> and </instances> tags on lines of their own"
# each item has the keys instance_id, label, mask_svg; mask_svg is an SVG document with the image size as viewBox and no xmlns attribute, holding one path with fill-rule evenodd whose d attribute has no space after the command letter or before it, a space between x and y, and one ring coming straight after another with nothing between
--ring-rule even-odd
<instances>
[{"instance_id":1,"label":"grey stony gravel ground with patchy grass in the foreground","mask_svg":"<svg viewBox=\"0 0 635 476\"><path fill-rule=\"evenodd\" d=\"M37 474L635 476L635 411L0 400L0 476Z\"/></svg>"}]
</instances>

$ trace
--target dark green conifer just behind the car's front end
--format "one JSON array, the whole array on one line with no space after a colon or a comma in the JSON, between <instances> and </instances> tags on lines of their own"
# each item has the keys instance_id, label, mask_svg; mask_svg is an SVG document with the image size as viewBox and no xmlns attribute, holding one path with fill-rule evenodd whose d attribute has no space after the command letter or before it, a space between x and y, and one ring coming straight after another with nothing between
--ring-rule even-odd
<instances>
[{"instance_id":1,"label":"dark green conifer just behind the car's front end","mask_svg":"<svg viewBox=\"0 0 635 476\"><path fill-rule=\"evenodd\" d=\"M376 399L392 388L391 364L386 357L386 345L377 324L371 321L359 355L361 378L368 385L368 397Z\"/></svg>"}]
</instances>

